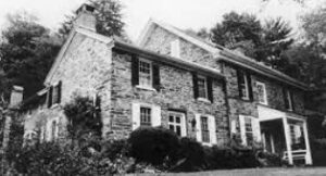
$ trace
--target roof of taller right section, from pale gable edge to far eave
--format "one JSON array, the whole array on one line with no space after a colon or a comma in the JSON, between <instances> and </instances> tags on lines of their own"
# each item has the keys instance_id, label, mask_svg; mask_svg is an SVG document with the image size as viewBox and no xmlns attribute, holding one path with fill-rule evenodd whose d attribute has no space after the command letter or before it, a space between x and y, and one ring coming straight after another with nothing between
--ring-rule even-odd
<instances>
[{"instance_id":1,"label":"roof of taller right section, from pale gable edge to far eave","mask_svg":"<svg viewBox=\"0 0 326 176\"><path fill-rule=\"evenodd\" d=\"M149 35L151 34L151 32L155 28L155 26L160 26L164 29L166 29L167 32L211 52L213 54L213 56L216 58L216 61L225 61L225 62L229 62L233 63L237 66L240 67L244 67L248 70L251 70L255 73L259 73L261 75L267 76L269 78L276 79L278 81L281 81L284 84L287 85L291 85L294 86L297 88L303 89L303 90L308 90L309 86L305 85L302 81L299 81L279 71L276 71L272 67L268 67L264 64L261 64L256 61L254 61L251 58L248 58L243 54L239 54L236 53L235 51L231 51L229 49L226 49L222 46L214 46L211 42L208 41L203 41L202 39L199 39L197 37L190 36L188 34L186 34L185 32L183 32L181 29L178 29L174 26L171 26L168 24L162 23L160 21L156 20L150 20L148 22L148 24L146 25L145 29L142 30L142 33L140 34L137 45L139 45L140 47L142 47L145 45L145 42L147 41Z\"/></svg>"}]
</instances>

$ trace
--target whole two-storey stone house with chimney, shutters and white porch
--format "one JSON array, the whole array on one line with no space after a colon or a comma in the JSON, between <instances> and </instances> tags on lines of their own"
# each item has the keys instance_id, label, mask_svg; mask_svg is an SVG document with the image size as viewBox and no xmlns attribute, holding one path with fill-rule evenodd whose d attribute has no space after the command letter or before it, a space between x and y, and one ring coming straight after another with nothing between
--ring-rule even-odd
<instances>
[{"instance_id":1,"label":"whole two-storey stone house with chimney, shutters and white porch","mask_svg":"<svg viewBox=\"0 0 326 176\"><path fill-rule=\"evenodd\" d=\"M304 92L309 87L239 51L216 47L150 20L136 45L96 33L93 8L78 10L67 40L29 101L25 138L66 135L63 105L76 96L100 97L104 138L139 126L163 126L203 144L263 144L293 164L312 164ZM39 134L39 135L33 135Z\"/></svg>"}]
</instances>

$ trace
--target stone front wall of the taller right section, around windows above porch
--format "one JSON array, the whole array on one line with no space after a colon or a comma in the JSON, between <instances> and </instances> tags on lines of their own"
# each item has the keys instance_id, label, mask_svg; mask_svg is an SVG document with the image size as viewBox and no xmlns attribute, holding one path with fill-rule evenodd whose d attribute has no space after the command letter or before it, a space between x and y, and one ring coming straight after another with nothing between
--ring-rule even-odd
<instances>
[{"instance_id":1,"label":"stone front wall of the taller right section, around windows above porch","mask_svg":"<svg viewBox=\"0 0 326 176\"><path fill-rule=\"evenodd\" d=\"M252 91L253 91L253 101L242 100L239 98L238 90L238 78L237 78L237 68L234 65L224 64L223 74L226 77L226 89L227 98L229 102L229 117L230 121L236 121L237 128L239 129L239 115L250 115L253 117L258 116L258 90L255 88L256 81L262 81L266 86L267 102L268 108L276 109L280 111L287 111L285 109L283 87L284 85L275 80L271 80L261 75L252 74ZM290 88L293 92L293 105L294 110L292 113L304 115L304 92L294 88Z\"/></svg>"}]
</instances>

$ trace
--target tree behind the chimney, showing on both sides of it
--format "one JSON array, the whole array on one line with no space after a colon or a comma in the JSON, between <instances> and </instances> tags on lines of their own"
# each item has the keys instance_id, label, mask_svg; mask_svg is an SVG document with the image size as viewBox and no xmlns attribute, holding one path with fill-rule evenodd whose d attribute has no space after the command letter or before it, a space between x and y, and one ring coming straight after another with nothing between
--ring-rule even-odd
<instances>
[{"instance_id":1,"label":"tree behind the chimney, showing on both sides of it","mask_svg":"<svg viewBox=\"0 0 326 176\"><path fill-rule=\"evenodd\" d=\"M97 33L104 36L120 36L127 40L124 30L125 23L123 22L122 9L123 5L118 0L90 0L90 4L96 8ZM67 15L66 21L62 24L59 33L64 38L73 27L73 21L76 14Z\"/></svg>"}]
</instances>

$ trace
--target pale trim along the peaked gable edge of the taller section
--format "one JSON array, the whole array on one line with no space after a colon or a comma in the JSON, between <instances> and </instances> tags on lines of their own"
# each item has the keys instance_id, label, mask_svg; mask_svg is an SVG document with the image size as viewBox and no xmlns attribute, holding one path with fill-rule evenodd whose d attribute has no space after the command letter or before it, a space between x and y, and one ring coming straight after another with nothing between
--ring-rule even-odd
<instances>
[{"instance_id":1,"label":"pale trim along the peaked gable edge of the taller section","mask_svg":"<svg viewBox=\"0 0 326 176\"><path fill-rule=\"evenodd\" d=\"M220 50L214 47L213 43L210 43L210 42L206 42L206 41L203 41L201 39L198 39L197 37L193 37L193 36L190 36L186 33L184 33L181 29L178 29L172 25L168 25L166 23L163 23L163 22L160 22L158 20L153 20L153 18L150 18L149 22L147 23L147 25L145 26L145 29L141 32L141 34L139 35L138 37L138 40L137 40L137 45L140 46L140 47L143 47L145 42L147 41L149 35L151 34L151 32L155 28L155 26L160 26L164 29L166 29L167 32L187 40L187 41L190 41L191 43L209 51L209 52L212 52L212 53L215 53L215 52L218 52Z\"/></svg>"}]
</instances>

